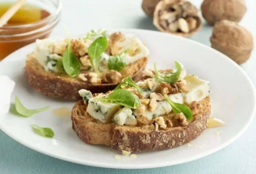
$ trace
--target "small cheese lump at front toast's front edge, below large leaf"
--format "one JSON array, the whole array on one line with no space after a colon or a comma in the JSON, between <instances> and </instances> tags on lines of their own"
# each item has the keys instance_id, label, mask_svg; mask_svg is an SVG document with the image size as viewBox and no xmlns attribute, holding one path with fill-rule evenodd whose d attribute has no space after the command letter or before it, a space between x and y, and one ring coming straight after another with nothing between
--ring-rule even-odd
<instances>
[{"instance_id":1,"label":"small cheese lump at front toast's front edge, below large leaf","mask_svg":"<svg viewBox=\"0 0 256 174\"><path fill-rule=\"evenodd\" d=\"M115 124L124 125L124 124L137 124L136 118L132 115L132 109L124 107L117 111L113 117Z\"/></svg>"}]
</instances>

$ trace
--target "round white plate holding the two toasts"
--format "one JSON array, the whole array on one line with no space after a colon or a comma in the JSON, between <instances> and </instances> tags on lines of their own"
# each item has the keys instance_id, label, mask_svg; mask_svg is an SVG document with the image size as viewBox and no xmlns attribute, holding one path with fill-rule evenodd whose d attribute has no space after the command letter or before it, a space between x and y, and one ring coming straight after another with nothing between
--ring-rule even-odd
<instances>
[{"instance_id":1,"label":"round white plate holding the two toasts","mask_svg":"<svg viewBox=\"0 0 256 174\"><path fill-rule=\"evenodd\" d=\"M12 102L17 95L28 108L36 109L46 105L51 108L30 118L11 113L1 115L2 131L33 150L74 163L110 168L151 168L185 163L212 154L232 143L252 122L256 105L255 89L236 63L212 48L182 37L148 30L122 31L134 33L146 43L150 50L151 67L156 61L159 69L173 68L174 61L180 61L188 73L210 80L212 116L223 120L226 125L205 130L191 142L192 146L138 153L137 158L115 159L115 155L120 152L106 146L85 144L72 130L69 117L56 117L51 113L53 109L60 107L72 109L73 102L42 96L29 87L24 65L26 54L33 51L34 44L31 44L0 62L0 74L5 74L16 82ZM47 139L38 136L33 133L30 124L52 128L55 137ZM216 133L218 130L223 132Z\"/></svg>"}]
</instances>

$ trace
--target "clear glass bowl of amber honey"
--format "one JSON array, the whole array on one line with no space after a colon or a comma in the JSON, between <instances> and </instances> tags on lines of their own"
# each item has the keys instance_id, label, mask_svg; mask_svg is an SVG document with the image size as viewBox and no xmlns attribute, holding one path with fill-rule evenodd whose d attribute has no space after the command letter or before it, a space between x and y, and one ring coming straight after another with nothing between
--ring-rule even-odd
<instances>
[{"instance_id":1,"label":"clear glass bowl of amber honey","mask_svg":"<svg viewBox=\"0 0 256 174\"><path fill-rule=\"evenodd\" d=\"M0 1L0 16L13 3ZM0 27L0 60L36 39L49 37L60 20L60 11L60 0L27 0L7 24Z\"/></svg>"}]
</instances>

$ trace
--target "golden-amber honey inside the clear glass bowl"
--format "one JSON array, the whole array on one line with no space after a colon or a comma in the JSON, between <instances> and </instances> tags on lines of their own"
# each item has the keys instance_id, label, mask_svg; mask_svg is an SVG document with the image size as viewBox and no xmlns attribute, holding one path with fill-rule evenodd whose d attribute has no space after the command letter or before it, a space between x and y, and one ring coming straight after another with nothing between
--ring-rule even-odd
<instances>
[{"instance_id":1,"label":"golden-amber honey inside the clear glass bowl","mask_svg":"<svg viewBox=\"0 0 256 174\"><path fill-rule=\"evenodd\" d=\"M0 16L10 7L11 3L0 3ZM5 24L0 28L0 61L11 52L29 44L36 39L48 37L51 31L33 32L47 25L46 22L37 24L48 17L50 13L44 9L29 4L24 4ZM29 25L31 24L31 25ZM31 34L27 34L27 33Z\"/></svg>"}]
</instances>

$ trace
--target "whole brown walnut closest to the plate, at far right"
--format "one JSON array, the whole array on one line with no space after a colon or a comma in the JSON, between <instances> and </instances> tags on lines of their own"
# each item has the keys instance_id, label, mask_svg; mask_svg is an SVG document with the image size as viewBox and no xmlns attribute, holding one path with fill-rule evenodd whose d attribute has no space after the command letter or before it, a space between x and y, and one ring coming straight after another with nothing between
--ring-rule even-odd
<instances>
[{"instance_id":1,"label":"whole brown walnut closest to the plate, at far right","mask_svg":"<svg viewBox=\"0 0 256 174\"><path fill-rule=\"evenodd\" d=\"M247 61L254 47L252 33L238 23L221 20L214 25L210 38L212 48L238 64Z\"/></svg>"}]
</instances>

